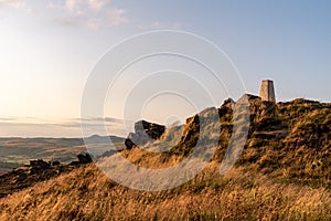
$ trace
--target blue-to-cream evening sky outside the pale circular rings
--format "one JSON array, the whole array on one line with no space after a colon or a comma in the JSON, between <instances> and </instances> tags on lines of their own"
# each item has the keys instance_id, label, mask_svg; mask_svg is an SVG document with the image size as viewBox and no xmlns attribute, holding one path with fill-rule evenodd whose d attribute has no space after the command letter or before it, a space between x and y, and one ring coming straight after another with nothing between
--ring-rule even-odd
<instances>
[{"instance_id":1,"label":"blue-to-cream evening sky outside the pale circular rings","mask_svg":"<svg viewBox=\"0 0 331 221\"><path fill-rule=\"evenodd\" d=\"M330 10L328 0L0 0L0 136L79 136L72 119L81 116L84 85L99 57L126 38L161 29L215 43L247 93L258 94L260 80L273 78L278 101L330 102ZM194 113L180 108L180 118ZM161 115L143 117L167 122ZM114 122L108 126L117 128Z\"/></svg>"}]
</instances>

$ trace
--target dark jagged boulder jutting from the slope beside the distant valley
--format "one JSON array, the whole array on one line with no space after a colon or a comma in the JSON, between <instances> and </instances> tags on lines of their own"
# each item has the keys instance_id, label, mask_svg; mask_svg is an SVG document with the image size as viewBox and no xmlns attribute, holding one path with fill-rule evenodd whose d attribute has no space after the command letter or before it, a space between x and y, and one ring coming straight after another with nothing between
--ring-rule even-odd
<instances>
[{"instance_id":1,"label":"dark jagged boulder jutting from the slope beside the distant valley","mask_svg":"<svg viewBox=\"0 0 331 221\"><path fill-rule=\"evenodd\" d=\"M125 140L128 149L135 146L143 146L148 141L159 139L166 130L166 126L139 120L135 124L135 133L130 133Z\"/></svg>"}]
</instances>

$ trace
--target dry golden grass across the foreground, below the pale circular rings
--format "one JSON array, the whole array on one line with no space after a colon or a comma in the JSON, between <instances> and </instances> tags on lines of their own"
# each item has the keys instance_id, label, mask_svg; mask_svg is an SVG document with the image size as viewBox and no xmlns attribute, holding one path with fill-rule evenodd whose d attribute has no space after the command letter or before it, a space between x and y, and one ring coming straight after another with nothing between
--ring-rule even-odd
<instances>
[{"instance_id":1,"label":"dry golden grass across the foreground, below the pale circular rings","mask_svg":"<svg viewBox=\"0 0 331 221\"><path fill-rule=\"evenodd\" d=\"M0 199L1 220L330 220L324 188L277 183L218 164L172 190L145 192L110 181L94 165Z\"/></svg>"}]
</instances>

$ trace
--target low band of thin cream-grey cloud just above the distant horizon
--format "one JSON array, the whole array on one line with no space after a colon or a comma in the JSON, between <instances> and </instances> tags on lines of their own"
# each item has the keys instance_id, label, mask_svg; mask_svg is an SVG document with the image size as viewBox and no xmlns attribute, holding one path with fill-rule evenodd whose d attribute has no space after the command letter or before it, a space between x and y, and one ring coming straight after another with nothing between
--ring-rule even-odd
<instances>
[{"instance_id":1,"label":"low band of thin cream-grey cloud just above the distant horizon","mask_svg":"<svg viewBox=\"0 0 331 221\"><path fill-rule=\"evenodd\" d=\"M132 130L132 125L125 125L124 120L111 117L71 118L71 119L42 119L35 118L0 118L0 137L81 137L82 126L88 134L103 134L105 126L109 135L126 137ZM107 135L107 134L106 134Z\"/></svg>"}]
</instances>

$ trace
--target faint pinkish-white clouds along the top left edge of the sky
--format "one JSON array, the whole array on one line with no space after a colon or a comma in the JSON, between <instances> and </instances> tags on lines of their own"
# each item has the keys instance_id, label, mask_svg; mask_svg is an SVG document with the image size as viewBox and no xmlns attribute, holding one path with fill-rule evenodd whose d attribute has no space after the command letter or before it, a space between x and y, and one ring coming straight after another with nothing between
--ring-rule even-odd
<instances>
[{"instance_id":1,"label":"faint pinkish-white clouds along the top left edge of the sky","mask_svg":"<svg viewBox=\"0 0 331 221\"><path fill-rule=\"evenodd\" d=\"M57 11L52 14L51 21L65 28L85 27L89 30L98 30L107 27L118 27L129 22L127 11L120 8L109 8L110 0L65 0L49 1L45 7ZM38 14L36 9L29 8L25 0L0 0L1 8L11 8L28 13ZM54 18L55 17L55 18Z\"/></svg>"}]
</instances>

